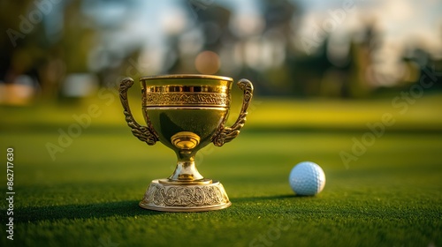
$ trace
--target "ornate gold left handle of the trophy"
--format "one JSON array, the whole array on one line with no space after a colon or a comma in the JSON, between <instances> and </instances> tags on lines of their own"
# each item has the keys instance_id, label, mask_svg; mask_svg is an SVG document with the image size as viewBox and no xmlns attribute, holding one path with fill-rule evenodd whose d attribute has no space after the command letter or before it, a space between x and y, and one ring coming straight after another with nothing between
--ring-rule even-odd
<instances>
[{"instance_id":1,"label":"ornate gold left handle of the trophy","mask_svg":"<svg viewBox=\"0 0 442 247\"><path fill-rule=\"evenodd\" d=\"M125 78L121 81L119 85L119 99L123 105L124 114L126 116L126 122L132 129L132 133L135 137L139 138L141 141L146 142L148 145L154 145L158 140L158 135L152 128L149 116L146 116L146 122L148 126L141 126L138 124L132 116L131 109L129 108L129 102L127 101L127 90L133 86L133 79Z\"/></svg>"}]
</instances>

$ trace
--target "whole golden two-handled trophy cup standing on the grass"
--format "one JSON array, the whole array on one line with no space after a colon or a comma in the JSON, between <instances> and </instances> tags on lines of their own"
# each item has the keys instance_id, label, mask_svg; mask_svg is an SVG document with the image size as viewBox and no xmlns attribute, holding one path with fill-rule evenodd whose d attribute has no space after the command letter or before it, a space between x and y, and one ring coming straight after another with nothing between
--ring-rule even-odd
<instances>
[{"instance_id":1,"label":"whole golden two-handled trophy cup standing on the grass","mask_svg":"<svg viewBox=\"0 0 442 247\"><path fill-rule=\"evenodd\" d=\"M121 81L119 96L127 125L133 135L148 145L162 142L178 157L168 178L153 180L140 206L167 212L199 212L231 206L221 183L203 177L196 169L198 150L212 142L223 146L236 138L246 122L253 86L248 79L237 85L243 91L240 116L225 127L231 104L231 78L212 75L165 75L142 77L141 104L146 126L133 119L127 90L133 79Z\"/></svg>"}]
</instances>

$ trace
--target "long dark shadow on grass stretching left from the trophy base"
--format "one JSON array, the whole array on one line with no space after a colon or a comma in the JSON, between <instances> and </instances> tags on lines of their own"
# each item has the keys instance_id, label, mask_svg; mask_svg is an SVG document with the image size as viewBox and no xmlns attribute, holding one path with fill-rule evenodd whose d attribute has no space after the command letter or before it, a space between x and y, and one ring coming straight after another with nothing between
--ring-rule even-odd
<instances>
[{"instance_id":1,"label":"long dark shadow on grass stretching left from the trophy base","mask_svg":"<svg viewBox=\"0 0 442 247\"><path fill-rule=\"evenodd\" d=\"M91 205L30 206L17 209L17 216L14 220L27 223L34 221L96 219L111 216L131 217L164 213L142 209L138 206L138 203L138 200L133 200Z\"/></svg>"}]
</instances>

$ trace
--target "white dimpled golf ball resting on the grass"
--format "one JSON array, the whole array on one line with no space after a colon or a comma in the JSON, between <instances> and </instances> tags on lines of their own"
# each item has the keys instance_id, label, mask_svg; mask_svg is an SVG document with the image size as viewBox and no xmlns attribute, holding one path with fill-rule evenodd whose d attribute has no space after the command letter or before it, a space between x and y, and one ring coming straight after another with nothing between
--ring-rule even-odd
<instances>
[{"instance_id":1,"label":"white dimpled golf ball resting on the grass","mask_svg":"<svg viewBox=\"0 0 442 247\"><path fill-rule=\"evenodd\" d=\"M288 182L297 195L314 196L323 191L325 174L316 163L304 161L292 168Z\"/></svg>"}]
</instances>

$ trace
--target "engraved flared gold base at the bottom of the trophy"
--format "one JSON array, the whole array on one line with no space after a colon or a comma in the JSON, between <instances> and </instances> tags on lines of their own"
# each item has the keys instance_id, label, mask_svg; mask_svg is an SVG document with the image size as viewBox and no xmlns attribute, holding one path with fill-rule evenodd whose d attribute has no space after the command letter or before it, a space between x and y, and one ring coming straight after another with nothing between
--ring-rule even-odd
<instances>
[{"instance_id":1,"label":"engraved flared gold base at the bottom of the trophy","mask_svg":"<svg viewBox=\"0 0 442 247\"><path fill-rule=\"evenodd\" d=\"M150 183L140 206L164 212L202 212L219 210L231 206L223 184L212 183L161 183L156 179Z\"/></svg>"}]
</instances>

